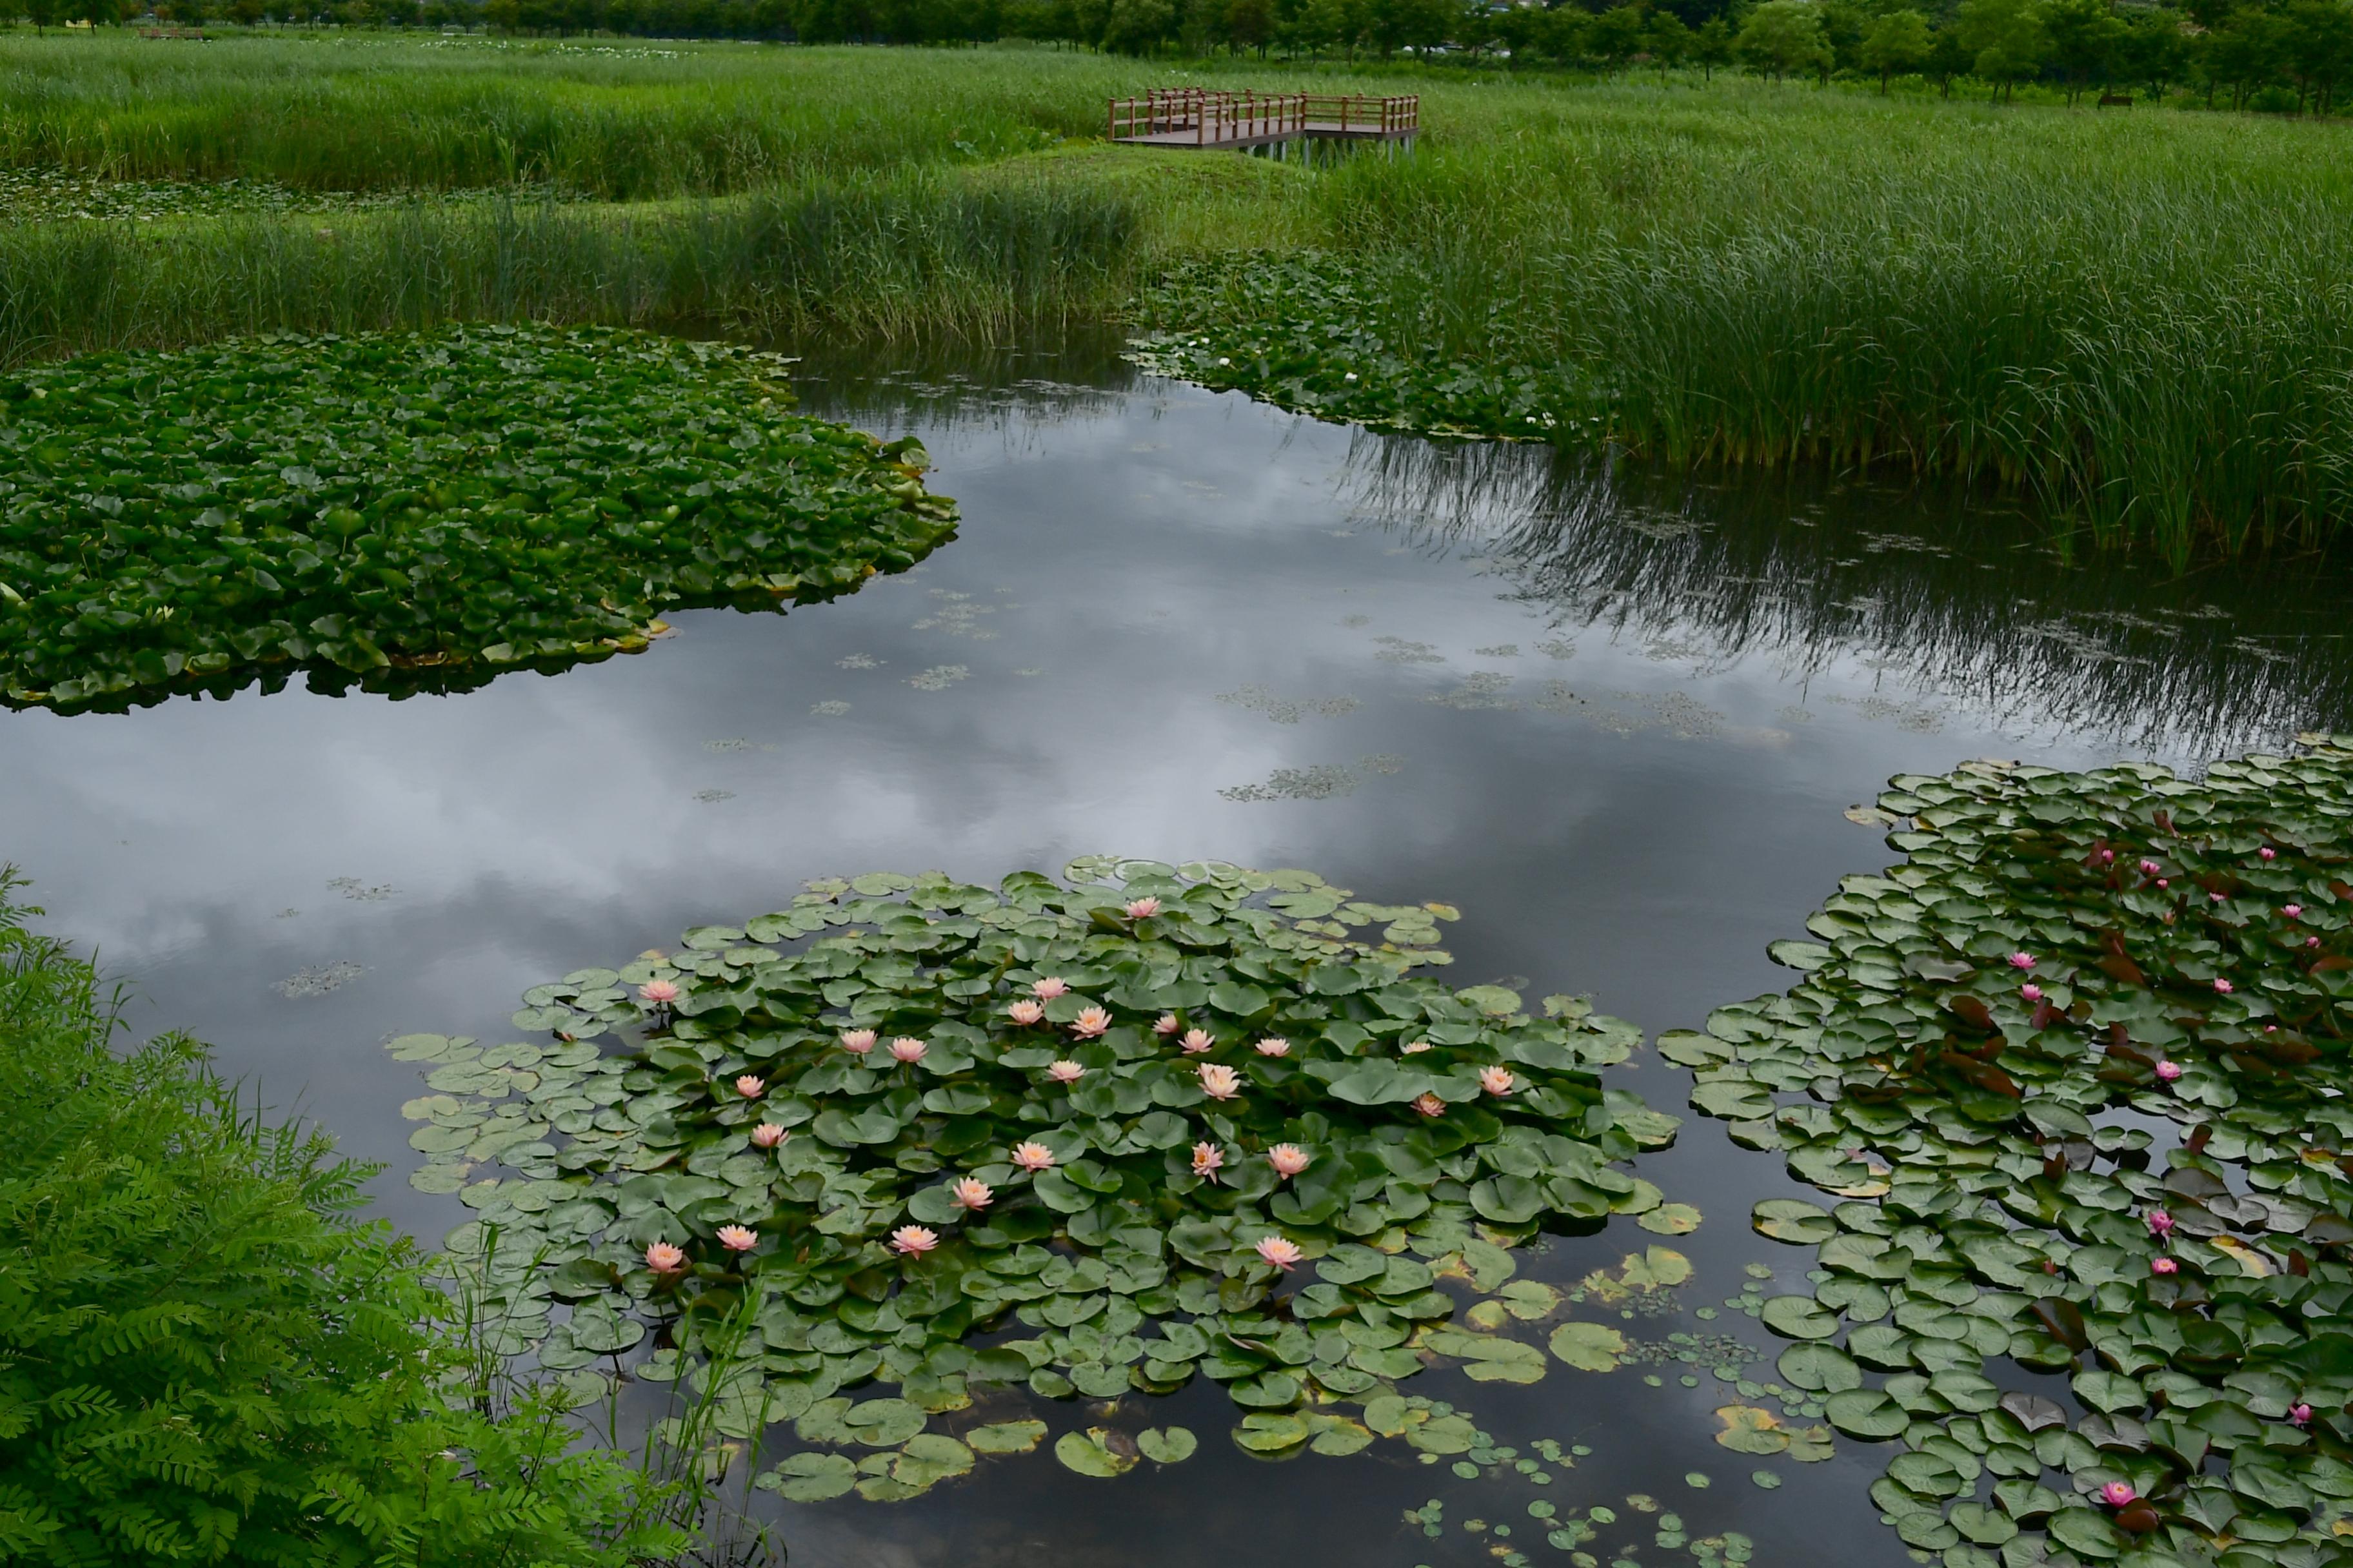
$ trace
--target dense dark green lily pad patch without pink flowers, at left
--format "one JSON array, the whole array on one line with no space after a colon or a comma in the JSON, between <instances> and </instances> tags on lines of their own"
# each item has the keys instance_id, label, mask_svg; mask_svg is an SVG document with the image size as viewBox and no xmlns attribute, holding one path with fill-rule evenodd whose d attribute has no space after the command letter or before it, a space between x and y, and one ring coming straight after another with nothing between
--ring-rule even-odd
<instances>
[{"instance_id":1,"label":"dense dark green lily pad patch without pink flowers, at left","mask_svg":"<svg viewBox=\"0 0 2353 1568\"><path fill-rule=\"evenodd\" d=\"M0 696L127 705L311 670L461 689L774 609L953 534L922 449L786 411L781 360L447 327L0 378Z\"/></svg>"}]
</instances>

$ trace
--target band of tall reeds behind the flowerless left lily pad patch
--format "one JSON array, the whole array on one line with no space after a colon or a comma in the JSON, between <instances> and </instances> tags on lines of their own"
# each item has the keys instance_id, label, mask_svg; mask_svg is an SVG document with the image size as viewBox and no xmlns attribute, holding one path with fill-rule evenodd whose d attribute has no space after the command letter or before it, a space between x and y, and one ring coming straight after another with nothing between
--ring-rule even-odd
<instances>
[{"instance_id":1,"label":"band of tall reeds behind the flowerless left lily pad patch","mask_svg":"<svg viewBox=\"0 0 2353 1568\"><path fill-rule=\"evenodd\" d=\"M0 364L445 320L991 339L1099 317L1134 233L1111 190L927 174L682 207L0 228Z\"/></svg>"}]
</instances>

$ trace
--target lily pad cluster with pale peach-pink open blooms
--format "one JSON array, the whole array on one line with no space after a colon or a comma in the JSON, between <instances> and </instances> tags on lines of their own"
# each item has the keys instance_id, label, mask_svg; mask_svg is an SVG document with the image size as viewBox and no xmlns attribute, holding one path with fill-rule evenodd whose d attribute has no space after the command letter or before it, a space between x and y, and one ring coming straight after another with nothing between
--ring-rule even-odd
<instances>
[{"instance_id":1,"label":"lily pad cluster with pale peach-pink open blooms","mask_svg":"<svg viewBox=\"0 0 2353 1568\"><path fill-rule=\"evenodd\" d=\"M1631 1025L1442 985L1442 919L1217 863L816 882L534 987L515 1025L548 1044L398 1039L433 1063L416 1180L480 1213L449 1248L499 1349L685 1378L732 1439L793 1422L762 1476L788 1497L1040 1441L1002 1385L1209 1378L1257 1455L1468 1453L1398 1385L1546 1359L1452 1324L1447 1281L1499 1293L1541 1227L1657 1208L1619 1161L1675 1119L1600 1086ZM1052 1448L1118 1474L1193 1439L1113 1418Z\"/></svg>"}]
</instances>

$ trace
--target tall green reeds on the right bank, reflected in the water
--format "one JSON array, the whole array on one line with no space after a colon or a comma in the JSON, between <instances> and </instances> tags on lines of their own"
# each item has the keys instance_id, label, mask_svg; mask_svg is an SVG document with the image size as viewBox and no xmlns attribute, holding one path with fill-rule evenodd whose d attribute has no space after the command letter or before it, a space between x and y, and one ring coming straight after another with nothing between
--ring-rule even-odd
<instances>
[{"instance_id":1,"label":"tall green reeds on the right bank, reflected in the water","mask_svg":"<svg viewBox=\"0 0 2353 1568\"><path fill-rule=\"evenodd\" d=\"M2353 179L2280 129L1588 106L1315 207L1384 339L1572 364L1624 447L2019 487L2179 562L2353 517Z\"/></svg>"}]
</instances>

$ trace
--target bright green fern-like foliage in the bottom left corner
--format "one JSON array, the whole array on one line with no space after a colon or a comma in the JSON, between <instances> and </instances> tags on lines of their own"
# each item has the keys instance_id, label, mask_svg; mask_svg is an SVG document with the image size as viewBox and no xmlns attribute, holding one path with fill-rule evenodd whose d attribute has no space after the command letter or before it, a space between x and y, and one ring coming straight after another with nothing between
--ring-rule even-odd
<instances>
[{"instance_id":1,"label":"bright green fern-like foliage in the bottom left corner","mask_svg":"<svg viewBox=\"0 0 2353 1568\"><path fill-rule=\"evenodd\" d=\"M685 1549L562 1410L499 1401L367 1168L238 1100L0 870L0 1563L624 1568Z\"/></svg>"}]
</instances>

